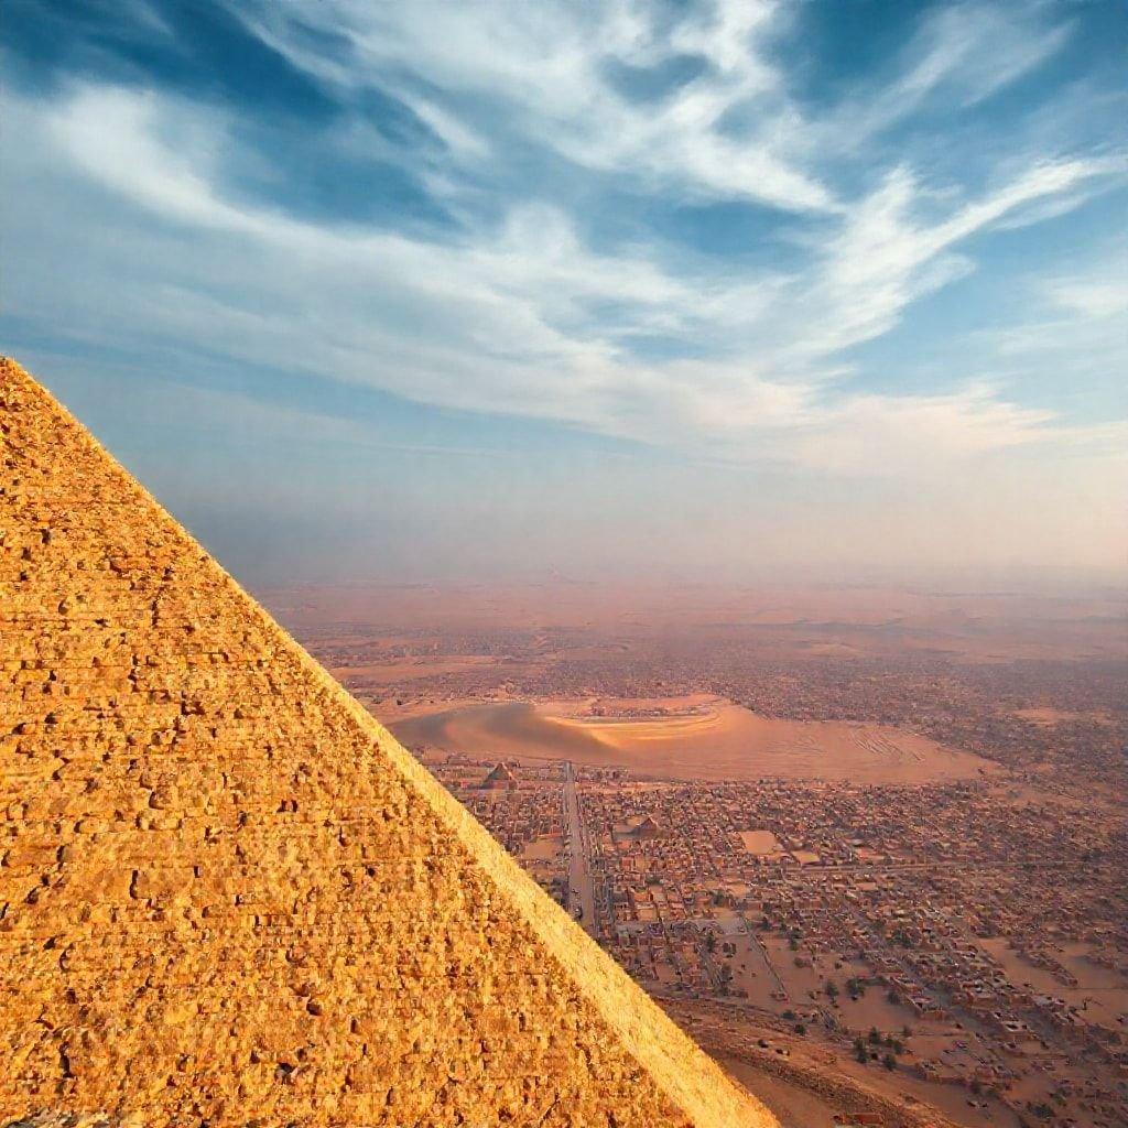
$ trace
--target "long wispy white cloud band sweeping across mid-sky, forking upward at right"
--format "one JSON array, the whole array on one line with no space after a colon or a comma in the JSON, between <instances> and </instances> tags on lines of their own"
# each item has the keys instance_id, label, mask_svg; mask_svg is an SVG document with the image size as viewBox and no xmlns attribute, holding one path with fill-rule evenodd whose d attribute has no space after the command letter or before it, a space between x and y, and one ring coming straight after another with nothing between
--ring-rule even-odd
<instances>
[{"instance_id":1,"label":"long wispy white cloud band sweeping across mid-sky, forking upward at right","mask_svg":"<svg viewBox=\"0 0 1128 1128\"><path fill-rule=\"evenodd\" d=\"M182 238L240 240L215 250L222 270L214 255L208 266L231 279L247 270L231 259L252 264L256 312L206 298L208 280L195 277L177 294L178 312L151 310L151 327L184 332L190 308L197 324L206 319L213 335L227 334L228 346L248 358L301 354L317 371L443 406L561 418L654 442L721 439L734 457L784 460L811 459L811 443L787 446L778 432L812 417L820 429L837 420L857 434L884 408L893 425L875 426L874 441L916 425L924 450L942 435L925 423L945 413L953 430L975 437L969 450L989 446L992 426L1003 421L998 446L1014 441L1016 420L1048 423L981 394L901 408L895 397L839 397L835 407L838 358L972 270L953 253L961 243L1031 202L1112 171L1107 161L1042 161L923 222L913 214L923 193L898 168L834 221L835 233L812 247L802 270L703 279L671 273L641 252L592 252L550 205L513 204L499 228L437 244L236 203L219 183L217 155L229 144L222 122L151 92L90 87L45 115L23 112L29 131L46 125L65 169L176 224ZM287 258L292 267L279 270ZM408 305L416 332L402 320ZM609 305L618 309L614 318ZM616 340L617 329L694 334L719 355L645 363ZM774 432L772 441L765 432Z\"/></svg>"}]
</instances>

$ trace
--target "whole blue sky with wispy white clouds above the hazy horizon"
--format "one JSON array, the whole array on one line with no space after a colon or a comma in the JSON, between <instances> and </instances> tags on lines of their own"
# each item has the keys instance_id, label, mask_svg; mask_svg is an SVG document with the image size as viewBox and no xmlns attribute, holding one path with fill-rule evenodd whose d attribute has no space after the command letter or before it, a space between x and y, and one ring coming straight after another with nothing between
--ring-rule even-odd
<instances>
[{"instance_id":1,"label":"whole blue sky with wispy white clouds above the hazy horizon","mask_svg":"<svg viewBox=\"0 0 1128 1128\"><path fill-rule=\"evenodd\" d=\"M253 585L1128 566L1121 0L6 0L0 351Z\"/></svg>"}]
</instances>

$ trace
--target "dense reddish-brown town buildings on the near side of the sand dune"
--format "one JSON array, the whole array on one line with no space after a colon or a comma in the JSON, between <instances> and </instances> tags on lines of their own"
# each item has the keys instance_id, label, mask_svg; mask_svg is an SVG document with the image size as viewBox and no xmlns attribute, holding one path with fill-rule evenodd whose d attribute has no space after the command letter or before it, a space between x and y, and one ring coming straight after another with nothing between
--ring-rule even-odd
<instances>
[{"instance_id":1,"label":"dense reddish-brown town buildings on the near side of the sand dune","mask_svg":"<svg viewBox=\"0 0 1128 1128\"><path fill-rule=\"evenodd\" d=\"M1043 774L906 790L588 769L573 843L558 765L514 765L495 794L487 759L432 760L527 865L546 858L530 844L555 852L565 904L566 855L587 853L589 927L660 997L724 1001L1031 1122L1128 1116L1128 836Z\"/></svg>"}]
</instances>

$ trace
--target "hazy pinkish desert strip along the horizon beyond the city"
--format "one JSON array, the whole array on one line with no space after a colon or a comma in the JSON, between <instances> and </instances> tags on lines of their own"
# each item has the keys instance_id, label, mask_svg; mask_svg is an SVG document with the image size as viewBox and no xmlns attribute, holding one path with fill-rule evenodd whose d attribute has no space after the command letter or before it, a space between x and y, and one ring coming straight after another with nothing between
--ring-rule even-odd
<instances>
[{"instance_id":1,"label":"hazy pinkish desert strip along the horizon beyond the city","mask_svg":"<svg viewBox=\"0 0 1128 1128\"><path fill-rule=\"evenodd\" d=\"M1010 578L1013 580L1013 578ZM1121 582L1078 594L1015 583L978 592L944 583L749 585L578 583L352 584L266 589L258 594L299 637L363 626L444 633L583 631L636 640L690 628L698 638L746 637L777 653L852 658L945 654L978 663L1128 654ZM580 656L573 652L571 656Z\"/></svg>"}]
</instances>

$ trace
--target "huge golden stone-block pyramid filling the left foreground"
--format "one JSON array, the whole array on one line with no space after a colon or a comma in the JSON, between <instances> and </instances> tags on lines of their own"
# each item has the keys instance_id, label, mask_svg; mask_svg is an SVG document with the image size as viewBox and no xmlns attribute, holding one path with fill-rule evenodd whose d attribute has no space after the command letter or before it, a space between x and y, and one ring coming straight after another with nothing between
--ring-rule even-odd
<instances>
[{"instance_id":1,"label":"huge golden stone-block pyramid filling the left foreground","mask_svg":"<svg viewBox=\"0 0 1128 1128\"><path fill-rule=\"evenodd\" d=\"M0 458L0 1123L775 1123L7 360Z\"/></svg>"}]
</instances>

